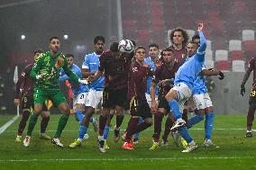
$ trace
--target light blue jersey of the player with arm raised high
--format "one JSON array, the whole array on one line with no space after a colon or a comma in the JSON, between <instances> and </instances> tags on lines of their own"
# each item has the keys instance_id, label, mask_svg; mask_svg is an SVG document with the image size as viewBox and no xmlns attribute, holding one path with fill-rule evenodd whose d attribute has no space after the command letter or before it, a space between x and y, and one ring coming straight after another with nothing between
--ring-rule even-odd
<instances>
[{"instance_id":1,"label":"light blue jersey of the player with arm raised high","mask_svg":"<svg viewBox=\"0 0 256 170\"><path fill-rule=\"evenodd\" d=\"M202 31L199 32L199 36L200 47L197 49L197 53L178 68L174 85L185 83L191 90L193 89L194 82L204 66L206 54L206 38Z\"/></svg>"}]
</instances>

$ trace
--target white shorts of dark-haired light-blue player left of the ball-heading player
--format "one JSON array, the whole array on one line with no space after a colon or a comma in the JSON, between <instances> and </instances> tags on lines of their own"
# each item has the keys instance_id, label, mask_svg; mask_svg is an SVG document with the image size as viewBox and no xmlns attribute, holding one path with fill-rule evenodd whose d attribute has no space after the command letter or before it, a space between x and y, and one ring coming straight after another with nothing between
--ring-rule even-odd
<instances>
[{"instance_id":1,"label":"white shorts of dark-haired light-blue player left of the ball-heading player","mask_svg":"<svg viewBox=\"0 0 256 170\"><path fill-rule=\"evenodd\" d=\"M86 106L96 109L99 103L102 103L103 91L90 89L87 95Z\"/></svg>"}]
</instances>

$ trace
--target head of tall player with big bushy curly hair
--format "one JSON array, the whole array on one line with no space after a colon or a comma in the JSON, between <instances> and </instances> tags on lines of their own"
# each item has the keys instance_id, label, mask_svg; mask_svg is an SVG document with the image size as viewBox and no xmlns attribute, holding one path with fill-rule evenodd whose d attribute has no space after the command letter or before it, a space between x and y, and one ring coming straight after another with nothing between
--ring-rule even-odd
<instances>
[{"instance_id":1,"label":"head of tall player with big bushy curly hair","mask_svg":"<svg viewBox=\"0 0 256 170\"><path fill-rule=\"evenodd\" d=\"M174 29L169 34L169 40L176 46L182 45L182 47L185 47L188 40L187 31L181 28Z\"/></svg>"}]
</instances>

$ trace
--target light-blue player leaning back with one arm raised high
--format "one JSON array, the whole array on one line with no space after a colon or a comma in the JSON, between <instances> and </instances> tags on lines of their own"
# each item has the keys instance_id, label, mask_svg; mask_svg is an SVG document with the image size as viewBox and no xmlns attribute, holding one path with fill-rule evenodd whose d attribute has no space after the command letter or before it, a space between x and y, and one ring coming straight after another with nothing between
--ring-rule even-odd
<instances>
[{"instance_id":1,"label":"light-blue player leaning back with one arm raised high","mask_svg":"<svg viewBox=\"0 0 256 170\"><path fill-rule=\"evenodd\" d=\"M192 150L197 149L196 142L189 135L187 127L184 126L186 121L182 119L180 109L182 109L184 103L191 96L194 80L201 72L201 68L205 61L206 38L202 32L203 28L204 24L199 23L197 31L200 36L200 47L197 49L197 54L188 59L187 62L178 68L178 72L174 80L174 87L170 89L169 93L165 96L174 117L177 119L172 130L177 128L181 137L185 139L188 144L187 148L182 152L191 152Z\"/></svg>"}]
</instances>

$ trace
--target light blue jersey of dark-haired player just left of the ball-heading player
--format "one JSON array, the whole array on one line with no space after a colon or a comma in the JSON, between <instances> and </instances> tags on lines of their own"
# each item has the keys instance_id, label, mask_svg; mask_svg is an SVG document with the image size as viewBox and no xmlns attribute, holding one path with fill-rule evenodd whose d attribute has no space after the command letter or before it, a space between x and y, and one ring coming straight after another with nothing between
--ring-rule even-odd
<instances>
[{"instance_id":1,"label":"light blue jersey of dark-haired player just left of the ball-heading player","mask_svg":"<svg viewBox=\"0 0 256 170\"><path fill-rule=\"evenodd\" d=\"M88 69L89 72L96 72L99 67L99 57L100 55L96 55L95 52L91 54L87 54L87 56L84 59L82 68ZM100 76L98 79L96 79L96 81L92 82L89 85L89 88L94 89L96 91L103 91L104 84L105 84L105 77Z\"/></svg>"}]
</instances>

